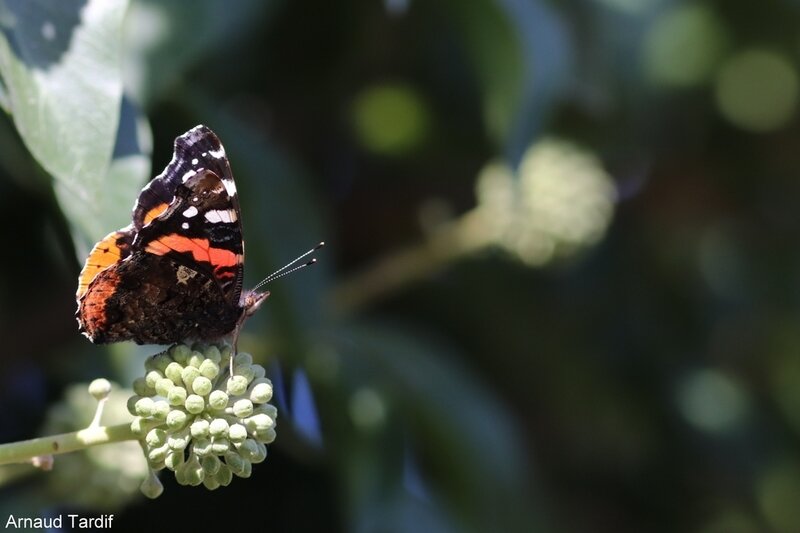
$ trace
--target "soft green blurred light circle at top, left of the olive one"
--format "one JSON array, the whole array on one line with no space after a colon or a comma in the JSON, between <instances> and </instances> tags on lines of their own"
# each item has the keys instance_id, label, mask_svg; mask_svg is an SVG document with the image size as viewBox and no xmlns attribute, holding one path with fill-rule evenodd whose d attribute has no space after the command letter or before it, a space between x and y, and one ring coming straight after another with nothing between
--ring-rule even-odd
<instances>
[{"instance_id":1,"label":"soft green blurred light circle at top, left of the olive one","mask_svg":"<svg viewBox=\"0 0 800 533\"><path fill-rule=\"evenodd\" d=\"M645 71L657 84L699 85L711 77L726 42L725 27L707 6L678 6L659 17L648 31Z\"/></svg>"}]
</instances>

